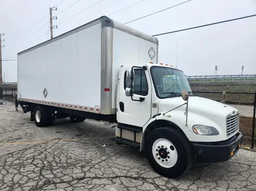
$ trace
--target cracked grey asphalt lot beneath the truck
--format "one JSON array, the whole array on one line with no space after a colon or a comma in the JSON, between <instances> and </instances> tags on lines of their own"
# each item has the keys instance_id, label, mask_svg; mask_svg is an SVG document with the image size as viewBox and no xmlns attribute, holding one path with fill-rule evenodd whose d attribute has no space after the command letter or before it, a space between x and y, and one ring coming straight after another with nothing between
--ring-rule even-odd
<instances>
[{"instance_id":1,"label":"cracked grey asphalt lot beneath the truck","mask_svg":"<svg viewBox=\"0 0 256 191\"><path fill-rule=\"evenodd\" d=\"M193 163L184 176L167 179L136 149L112 142L112 126L61 119L39 128L30 112L0 106L0 191L256 190L256 152L240 149L227 162Z\"/></svg>"}]
</instances>

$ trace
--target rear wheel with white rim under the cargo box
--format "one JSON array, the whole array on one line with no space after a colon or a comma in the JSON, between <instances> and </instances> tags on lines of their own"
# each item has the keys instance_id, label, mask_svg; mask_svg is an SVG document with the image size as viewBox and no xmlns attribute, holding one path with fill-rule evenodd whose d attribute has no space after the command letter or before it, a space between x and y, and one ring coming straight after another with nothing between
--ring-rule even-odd
<instances>
[{"instance_id":1,"label":"rear wheel with white rim under the cargo box","mask_svg":"<svg viewBox=\"0 0 256 191\"><path fill-rule=\"evenodd\" d=\"M46 126L46 122L47 122L46 107L42 105L36 106L35 112L34 112L34 118L35 118L36 126L38 127Z\"/></svg>"}]
</instances>

